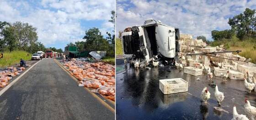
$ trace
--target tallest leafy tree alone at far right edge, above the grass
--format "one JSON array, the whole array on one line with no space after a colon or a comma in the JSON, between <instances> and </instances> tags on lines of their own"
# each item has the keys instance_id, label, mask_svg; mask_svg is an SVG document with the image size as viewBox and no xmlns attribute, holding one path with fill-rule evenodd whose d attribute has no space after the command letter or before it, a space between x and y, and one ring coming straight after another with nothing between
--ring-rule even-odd
<instances>
[{"instance_id":1,"label":"tallest leafy tree alone at far right edge, above the grass","mask_svg":"<svg viewBox=\"0 0 256 120\"><path fill-rule=\"evenodd\" d=\"M253 30L256 29L255 20L255 10L246 8L243 13L229 18L228 24L231 26L231 29L236 32L240 40L242 40L245 35L247 39L249 39L249 36L253 34Z\"/></svg>"}]
</instances>

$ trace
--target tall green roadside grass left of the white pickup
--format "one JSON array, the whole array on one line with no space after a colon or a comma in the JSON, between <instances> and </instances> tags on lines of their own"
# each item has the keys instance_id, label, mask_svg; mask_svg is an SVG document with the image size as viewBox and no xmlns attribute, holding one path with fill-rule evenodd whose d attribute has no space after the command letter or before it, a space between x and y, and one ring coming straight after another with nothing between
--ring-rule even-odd
<instances>
[{"instance_id":1,"label":"tall green roadside grass left of the white pickup","mask_svg":"<svg viewBox=\"0 0 256 120\"><path fill-rule=\"evenodd\" d=\"M3 58L0 59L0 67L15 65L20 62L21 58L23 60L30 60L31 55L27 56L29 54L26 51L12 51L11 53L9 51L5 51L3 53Z\"/></svg>"}]
</instances>

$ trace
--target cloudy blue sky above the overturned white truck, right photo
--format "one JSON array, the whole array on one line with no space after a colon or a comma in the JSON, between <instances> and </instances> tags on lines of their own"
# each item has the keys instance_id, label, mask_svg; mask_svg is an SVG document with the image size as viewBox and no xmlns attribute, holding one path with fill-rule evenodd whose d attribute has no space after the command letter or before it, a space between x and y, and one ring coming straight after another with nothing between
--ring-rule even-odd
<instances>
[{"instance_id":1,"label":"cloudy blue sky above the overturned white truck, right photo","mask_svg":"<svg viewBox=\"0 0 256 120\"><path fill-rule=\"evenodd\" d=\"M228 19L245 8L256 9L256 0L117 0L116 31L153 18L183 34L212 40L212 30L230 29Z\"/></svg>"}]
</instances>

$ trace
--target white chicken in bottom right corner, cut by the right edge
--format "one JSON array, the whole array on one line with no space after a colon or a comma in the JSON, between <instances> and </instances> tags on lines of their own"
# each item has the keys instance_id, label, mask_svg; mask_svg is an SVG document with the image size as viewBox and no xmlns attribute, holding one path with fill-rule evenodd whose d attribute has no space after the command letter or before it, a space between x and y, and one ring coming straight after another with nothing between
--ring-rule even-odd
<instances>
[{"instance_id":1,"label":"white chicken in bottom right corner, cut by the right edge","mask_svg":"<svg viewBox=\"0 0 256 120\"><path fill-rule=\"evenodd\" d=\"M256 119L256 107L251 106L249 100L245 99L245 114L250 120Z\"/></svg>"}]
</instances>

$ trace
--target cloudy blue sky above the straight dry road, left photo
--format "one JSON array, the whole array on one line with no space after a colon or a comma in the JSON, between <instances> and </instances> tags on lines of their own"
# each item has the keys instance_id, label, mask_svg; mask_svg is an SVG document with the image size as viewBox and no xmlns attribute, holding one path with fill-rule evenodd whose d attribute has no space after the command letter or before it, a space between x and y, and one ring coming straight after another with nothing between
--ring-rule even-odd
<instances>
[{"instance_id":1,"label":"cloudy blue sky above the straight dry road, left photo","mask_svg":"<svg viewBox=\"0 0 256 120\"><path fill-rule=\"evenodd\" d=\"M97 27L106 36L115 0L0 0L0 21L27 22L37 27L38 40L57 49L82 40Z\"/></svg>"}]
</instances>

